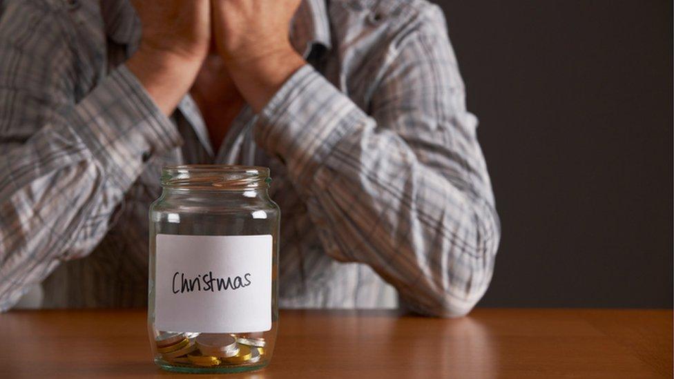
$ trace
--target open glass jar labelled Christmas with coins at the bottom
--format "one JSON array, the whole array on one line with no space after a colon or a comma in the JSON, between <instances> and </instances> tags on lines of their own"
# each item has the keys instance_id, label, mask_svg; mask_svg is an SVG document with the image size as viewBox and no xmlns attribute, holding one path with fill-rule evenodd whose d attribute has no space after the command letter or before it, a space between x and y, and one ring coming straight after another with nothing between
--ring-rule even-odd
<instances>
[{"instance_id":1,"label":"open glass jar labelled Christmas with coins at the bottom","mask_svg":"<svg viewBox=\"0 0 674 379\"><path fill-rule=\"evenodd\" d=\"M148 329L169 371L269 364L278 323L280 210L269 168L166 166L150 207Z\"/></svg>"}]
</instances>

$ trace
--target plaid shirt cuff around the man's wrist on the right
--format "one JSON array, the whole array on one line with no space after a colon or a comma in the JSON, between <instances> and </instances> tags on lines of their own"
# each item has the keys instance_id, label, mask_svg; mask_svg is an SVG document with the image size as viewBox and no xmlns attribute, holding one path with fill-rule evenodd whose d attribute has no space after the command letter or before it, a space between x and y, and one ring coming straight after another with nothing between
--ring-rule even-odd
<instances>
[{"instance_id":1,"label":"plaid shirt cuff around the man's wrist on the right","mask_svg":"<svg viewBox=\"0 0 674 379\"><path fill-rule=\"evenodd\" d=\"M367 115L310 65L297 70L258 115L255 138L307 185L340 140Z\"/></svg>"}]
</instances>

